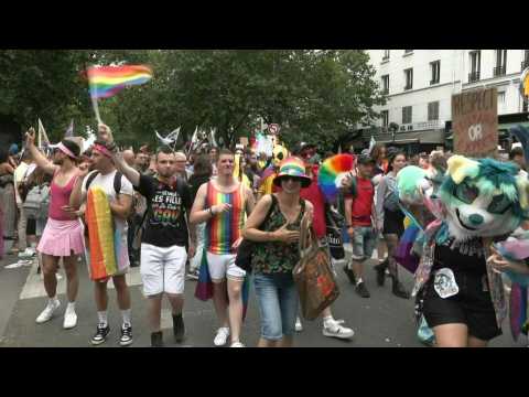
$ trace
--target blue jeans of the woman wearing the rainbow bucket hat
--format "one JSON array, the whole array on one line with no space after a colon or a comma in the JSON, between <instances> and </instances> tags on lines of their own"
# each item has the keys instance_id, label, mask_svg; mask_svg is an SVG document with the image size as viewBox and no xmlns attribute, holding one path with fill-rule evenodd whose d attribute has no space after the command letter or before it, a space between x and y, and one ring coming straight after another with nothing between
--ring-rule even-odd
<instances>
[{"instance_id":1,"label":"blue jeans of the woman wearing the rainbow bucket hat","mask_svg":"<svg viewBox=\"0 0 529 397\"><path fill-rule=\"evenodd\" d=\"M280 341L283 335L292 336L299 301L292 273L256 273L253 285L261 315L261 337Z\"/></svg>"}]
</instances>

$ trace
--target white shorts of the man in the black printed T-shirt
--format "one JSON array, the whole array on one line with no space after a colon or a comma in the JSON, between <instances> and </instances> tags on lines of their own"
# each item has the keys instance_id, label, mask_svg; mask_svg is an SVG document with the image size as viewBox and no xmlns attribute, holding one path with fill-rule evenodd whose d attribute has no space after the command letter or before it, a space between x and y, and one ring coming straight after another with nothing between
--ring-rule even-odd
<instances>
[{"instance_id":1,"label":"white shorts of the man in the black printed T-shirt","mask_svg":"<svg viewBox=\"0 0 529 397\"><path fill-rule=\"evenodd\" d=\"M148 297L162 292L184 293L185 247L156 247L141 245L140 273L143 281L143 293Z\"/></svg>"}]
</instances>

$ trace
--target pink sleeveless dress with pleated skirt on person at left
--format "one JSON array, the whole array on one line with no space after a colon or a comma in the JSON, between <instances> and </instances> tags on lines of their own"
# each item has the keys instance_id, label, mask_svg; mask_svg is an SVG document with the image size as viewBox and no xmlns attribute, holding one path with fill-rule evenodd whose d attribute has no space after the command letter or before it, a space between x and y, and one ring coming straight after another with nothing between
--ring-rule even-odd
<instances>
[{"instance_id":1,"label":"pink sleeveless dress with pleated skirt on person at left","mask_svg":"<svg viewBox=\"0 0 529 397\"><path fill-rule=\"evenodd\" d=\"M50 189L50 211L46 227L36 249L39 253L54 257L68 257L84 254L84 226L79 218L72 216L62 207L69 204L69 196L77 176L69 180L66 186L52 181Z\"/></svg>"}]
</instances>

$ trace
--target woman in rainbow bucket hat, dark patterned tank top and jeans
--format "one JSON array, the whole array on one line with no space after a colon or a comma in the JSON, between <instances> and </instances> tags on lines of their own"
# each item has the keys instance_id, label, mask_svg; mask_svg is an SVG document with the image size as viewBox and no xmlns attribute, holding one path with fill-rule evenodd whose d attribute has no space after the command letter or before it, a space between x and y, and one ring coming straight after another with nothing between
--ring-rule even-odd
<instances>
[{"instance_id":1,"label":"woman in rainbow bucket hat, dark patterned tank top and jeans","mask_svg":"<svg viewBox=\"0 0 529 397\"><path fill-rule=\"evenodd\" d=\"M303 160L285 159L273 183L281 191L259 201L242 235L256 243L253 282L261 318L258 346L290 347L299 302L292 270L300 260L300 229L312 225L314 207L300 197L301 189L311 184Z\"/></svg>"}]
</instances>

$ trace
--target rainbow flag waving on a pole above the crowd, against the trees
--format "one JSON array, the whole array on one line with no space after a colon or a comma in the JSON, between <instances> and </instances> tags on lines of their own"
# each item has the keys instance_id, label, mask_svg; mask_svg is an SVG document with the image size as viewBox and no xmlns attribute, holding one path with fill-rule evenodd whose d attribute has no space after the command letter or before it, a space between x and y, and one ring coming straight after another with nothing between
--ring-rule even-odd
<instances>
[{"instance_id":1,"label":"rainbow flag waving on a pole above the crowd, against the trees","mask_svg":"<svg viewBox=\"0 0 529 397\"><path fill-rule=\"evenodd\" d=\"M152 69L144 65L93 66L87 71L91 98L109 98L128 86L140 85L152 78Z\"/></svg>"}]
</instances>

